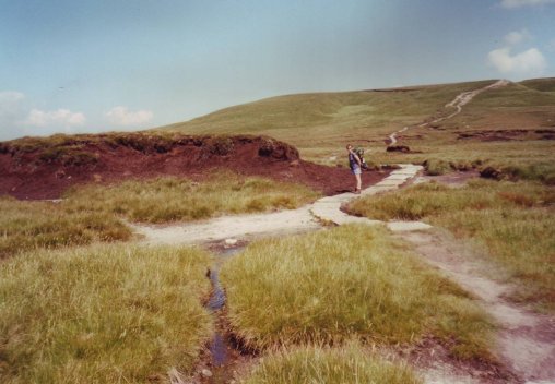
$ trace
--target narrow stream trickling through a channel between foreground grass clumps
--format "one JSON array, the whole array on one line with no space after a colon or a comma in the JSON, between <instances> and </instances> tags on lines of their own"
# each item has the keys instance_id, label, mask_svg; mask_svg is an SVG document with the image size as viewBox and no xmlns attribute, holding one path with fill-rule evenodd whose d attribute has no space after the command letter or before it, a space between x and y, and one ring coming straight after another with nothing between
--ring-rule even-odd
<instances>
[{"instance_id":1,"label":"narrow stream trickling through a channel between foreground grass clumps","mask_svg":"<svg viewBox=\"0 0 555 384\"><path fill-rule=\"evenodd\" d=\"M245 245L227 248L216 253L216 261L210 269L210 281L212 283L212 295L210 296L206 308L216 317L216 326L214 329L214 338L210 341L209 350L211 355L212 376L210 383L223 384L227 383L231 377L231 372L227 371L229 361L229 350L233 348L225 334L224 324L222 321L222 309L225 305L225 291L220 283L220 268L225 261L237 253L241 252Z\"/></svg>"}]
</instances>

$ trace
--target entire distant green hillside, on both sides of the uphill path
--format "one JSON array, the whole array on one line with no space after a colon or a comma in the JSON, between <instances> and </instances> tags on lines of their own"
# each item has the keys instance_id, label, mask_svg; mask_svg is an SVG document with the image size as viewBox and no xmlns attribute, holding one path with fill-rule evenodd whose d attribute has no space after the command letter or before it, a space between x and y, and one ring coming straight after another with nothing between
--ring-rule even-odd
<instances>
[{"instance_id":1,"label":"entire distant green hillside, on both sides of the uphill path","mask_svg":"<svg viewBox=\"0 0 555 384\"><path fill-rule=\"evenodd\" d=\"M369 148L369 159L381 164L441 160L449 168L449 163L494 166L554 163L554 156L548 154L555 153L555 146L553 140L546 140L555 131L554 79L528 80L484 92L454 118L416 128L426 119L448 113L445 105L460 93L493 82L280 96L161 129L268 134L297 146L304 158L324 164L344 163L343 147L350 142ZM399 136L400 144L413 152L386 153L387 136L405 125L414 127ZM484 137L480 131L503 132ZM470 137L461 139L469 134Z\"/></svg>"}]
</instances>

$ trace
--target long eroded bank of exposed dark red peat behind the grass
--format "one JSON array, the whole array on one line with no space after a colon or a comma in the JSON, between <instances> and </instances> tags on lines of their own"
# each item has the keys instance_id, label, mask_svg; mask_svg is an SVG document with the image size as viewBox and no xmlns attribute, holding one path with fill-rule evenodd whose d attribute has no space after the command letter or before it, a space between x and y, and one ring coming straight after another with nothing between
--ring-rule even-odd
<instances>
[{"instance_id":1,"label":"long eroded bank of exposed dark red peat behind the grass","mask_svg":"<svg viewBox=\"0 0 555 384\"><path fill-rule=\"evenodd\" d=\"M262 136L102 134L0 143L0 195L58 199L75 184L158 176L203 179L215 169L299 182L324 194L354 184L347 168L305 161L298 151ZM365 172L364 187L386 173Z\"/></svg>"}]
</instances>

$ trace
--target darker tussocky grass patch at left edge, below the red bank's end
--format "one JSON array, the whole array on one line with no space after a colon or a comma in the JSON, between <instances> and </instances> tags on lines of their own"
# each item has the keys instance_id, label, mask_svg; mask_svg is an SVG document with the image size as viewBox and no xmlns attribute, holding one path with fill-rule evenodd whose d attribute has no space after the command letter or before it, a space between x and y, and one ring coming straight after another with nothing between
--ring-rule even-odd
<instances>
[{"instance_id":1,"label":"darker tussocky grass patch at left edge, below the red bank's end","mask_svg":"<svg viewBox=\"0 0 555 384\"><path fill-rule=\"evenodd\" d=\"M131 231L113 215L68 212L47 202L0 197L0 259L38 248L127 240Z\"/></svg>"}]
</instances>

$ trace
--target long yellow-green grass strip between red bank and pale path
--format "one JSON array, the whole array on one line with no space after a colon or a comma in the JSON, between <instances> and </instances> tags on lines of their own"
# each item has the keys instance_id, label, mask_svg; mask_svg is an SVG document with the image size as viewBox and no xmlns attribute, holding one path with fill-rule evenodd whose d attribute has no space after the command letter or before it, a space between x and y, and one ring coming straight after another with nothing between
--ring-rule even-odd
<instances>
[{"instance_id":1,"label":"long yellow-green grass strip between red bank and pale path","mask_svg":"<svg viewBox=\"0 0 555 384\"><path fill-rule=\"evenodd\" d=\"M69 213L85 211L121 215L133 221L168 223L291 209L317 197L318 193L304 185L222 172L202 182L164 177L111 187L87 185L67 193L62 206Z\"/></svg>"}]
</instances>

